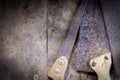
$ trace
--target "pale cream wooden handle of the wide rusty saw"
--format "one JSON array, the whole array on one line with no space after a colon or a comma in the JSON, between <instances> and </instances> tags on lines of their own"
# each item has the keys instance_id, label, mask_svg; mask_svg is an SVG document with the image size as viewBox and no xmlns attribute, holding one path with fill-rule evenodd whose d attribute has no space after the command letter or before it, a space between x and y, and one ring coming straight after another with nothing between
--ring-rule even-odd
<instances>
[{"instance_id":1,"label":"pale cream wooden handle of the wide rusty saw","mask_svg":"<svg viewBox=\"0 0 120 80\"><path fill-rule=\"evenodd\" d=\"M91 68L97 73L98 80L111 80L111 53L105 53L90 60Z\"/></svg>"}]
</instances>

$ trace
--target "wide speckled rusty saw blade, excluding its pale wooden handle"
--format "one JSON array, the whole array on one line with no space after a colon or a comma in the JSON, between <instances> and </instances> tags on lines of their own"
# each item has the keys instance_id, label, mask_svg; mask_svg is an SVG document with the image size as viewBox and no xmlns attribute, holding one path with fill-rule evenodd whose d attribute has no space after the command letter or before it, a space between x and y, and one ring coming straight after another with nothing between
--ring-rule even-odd
<instances>
[{"instance_id":1,"label":"wide speckled rusty saw blade, excluding its pale wooden handle","mask_svg":"<svg viewBox=\"0 0 120 80\"><path fill-rule=\"evenodd\" d=\"M98 1L89 0L78 37L76 70L93 72L89 60L110 51L103 16Z\"/></svg>"}]
</instances>

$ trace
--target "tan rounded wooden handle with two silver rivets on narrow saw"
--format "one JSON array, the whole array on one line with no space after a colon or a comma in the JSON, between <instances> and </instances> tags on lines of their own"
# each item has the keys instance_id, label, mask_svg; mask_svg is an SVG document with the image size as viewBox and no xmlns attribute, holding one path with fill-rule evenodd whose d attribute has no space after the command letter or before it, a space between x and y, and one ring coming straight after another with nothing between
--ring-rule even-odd
<instances>
[{"instance_id":1,"label":"tan rounded wooden handle with two silver rivets on narrow saw","mask_svg":"<svg viewBox=\"0 0 120 80\"><path fill-rule=\"evenodd\" d=\"M48 76L53 80L63 80L67 65L67 58L65 56L59 57L48 72Z\"/></svg>"}]
</instances>

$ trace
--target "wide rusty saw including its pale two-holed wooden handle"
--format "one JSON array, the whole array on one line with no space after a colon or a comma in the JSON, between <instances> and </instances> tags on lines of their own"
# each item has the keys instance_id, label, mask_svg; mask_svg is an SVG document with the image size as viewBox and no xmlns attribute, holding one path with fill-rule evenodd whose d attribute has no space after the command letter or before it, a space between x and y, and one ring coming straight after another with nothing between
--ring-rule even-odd
<instances>
[{"instance_id":1,"label":"wide rusty saw including its pale two-holed wooden handle","mask_svg":"<svg viewBox=\"0 0 120 80\"><path fill-rule=\"evenodd\" d=\"M95 71L99 80L110 80L111 52L98 0L88 1L79 30L76 70Z\"/></svg>"}]
</instances>

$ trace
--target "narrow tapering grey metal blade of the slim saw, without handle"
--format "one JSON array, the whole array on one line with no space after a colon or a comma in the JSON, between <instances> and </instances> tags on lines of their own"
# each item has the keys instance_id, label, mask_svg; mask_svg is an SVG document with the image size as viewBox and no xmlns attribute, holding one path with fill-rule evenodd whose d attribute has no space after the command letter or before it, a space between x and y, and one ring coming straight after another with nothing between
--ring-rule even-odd
<instances>
[{"instance_id":1,"label":"narrow tapering grey metal blade of the slim saw, without handle","mask_svg":"<svg viewBox=\"0 0 120 80\"><path fill-rule=\"evenodd\" d=\"M74 47L75 40L78 34L79 26L82 21L84 10L87 5L87 1L88 0L84 0L80 4L78 11L75 14L75 17L73 18L72 23L70 25L70 29L68 31L66 40L63 43L63 46L61 47L61 49L59 50L59 53L58 53L59 56L66 56L68 59L70 58L71 52Z\"/></svg>"}]
</instances>

